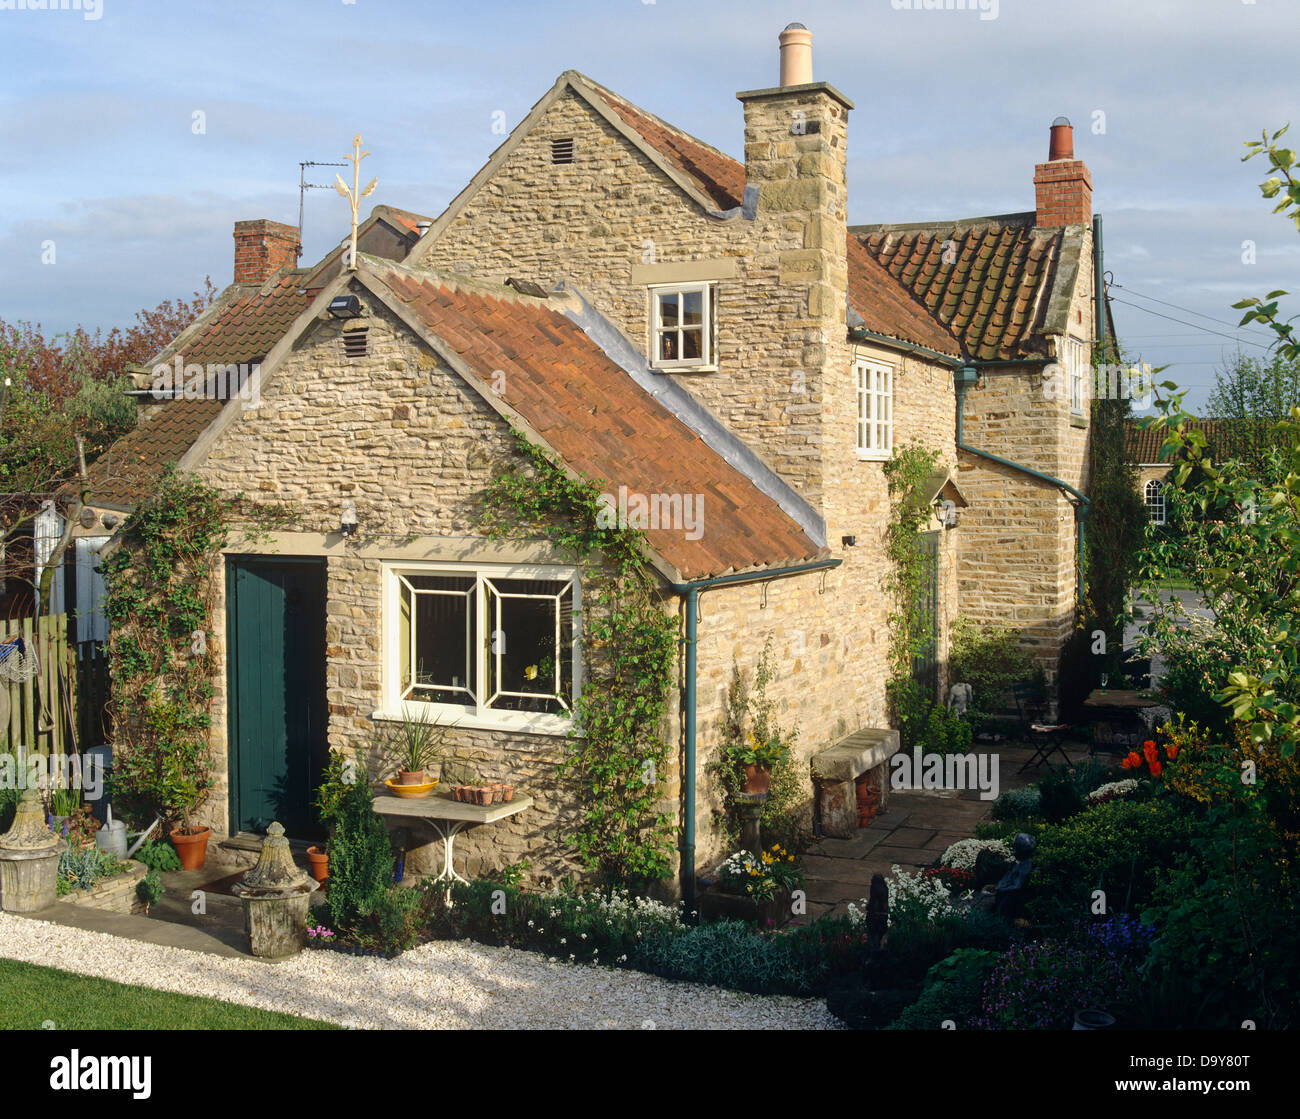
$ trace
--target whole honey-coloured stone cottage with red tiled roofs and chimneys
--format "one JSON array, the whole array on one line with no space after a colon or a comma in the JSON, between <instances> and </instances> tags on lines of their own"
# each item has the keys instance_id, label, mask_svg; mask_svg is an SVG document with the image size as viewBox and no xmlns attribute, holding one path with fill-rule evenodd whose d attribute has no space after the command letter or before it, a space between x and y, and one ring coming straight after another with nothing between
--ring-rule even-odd
<instances>
[{"instance_id":1,"label":"whole honey-coloured stone cottage with red tiled roofs and chimneys","mask_svg":"<svg viewBox=\"0 0 1300 1119\"><path fill-rule=\"evenodd\" d=\"M849 226L853 103L814 81L798 25L780 74L737 95L744 161L567 71L436 221L377 211L355 266L296 268L295 230L237 226L237 283L159 361L255 363L255 407L147 403L113 448L129 485L92 470L107 511L166 461L300 511L217 572L216 832L306 819L328 749L432 711L456 720L462 765L537 802L469 833L469 869L575 867L555 763L593 572L478 528L511 430L620 508L666 513L646 535L682 655L658 776L688 893L723 854L707 775L733 664L751 673L771 643L826 830L853 827L855 778L879 782L896 749L883 467L900 446L940 463L919 678L940 694L958 611L1020 628L1050 678L1075 620L1097 305L1071 129L1052 126L1031 212ZM489 652L498 630L516 652ZM543 662L541 695L521 681Z\"/></svg>"}]
</instances>

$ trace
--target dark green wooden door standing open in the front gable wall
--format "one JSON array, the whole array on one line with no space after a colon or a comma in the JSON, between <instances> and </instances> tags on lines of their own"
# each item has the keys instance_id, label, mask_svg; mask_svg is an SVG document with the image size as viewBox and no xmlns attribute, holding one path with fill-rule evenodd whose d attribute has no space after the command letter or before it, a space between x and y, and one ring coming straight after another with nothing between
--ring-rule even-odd
<instances>
[{"instance_id":1,"label":"dark green wooden door standing open in the front gable wall","mask_svg":"<svg viewBox=\"0 0 1300 1119\"><path fill-rule=\"evenodd\" d=\"M326 756L325 564L226 564L231 832L312 833Z\"/></svg>"}]
</instances>

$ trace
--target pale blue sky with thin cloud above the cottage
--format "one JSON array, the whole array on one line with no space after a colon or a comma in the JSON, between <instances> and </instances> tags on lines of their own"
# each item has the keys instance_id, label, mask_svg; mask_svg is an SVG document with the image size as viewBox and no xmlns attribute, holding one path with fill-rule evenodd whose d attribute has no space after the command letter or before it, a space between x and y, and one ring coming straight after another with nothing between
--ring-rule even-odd
<instances>
[{"instance_id":1,"label":"pale blue sky with thin cloud above the cottage","mask_svg":"<svg viewBox=\"0 0 1300 1119\"><path fill-rule=\"evenodd\" d=\"M1300 237L1260 198L1264 162L1240 161L1296 116L1296 0L998 0L996 18L901 0L100 0L95 19L18 3L0 0L0 318L47 331L225 286L233 224L296 222L299 161L342 159L358 131L368 203L441 213L500 143L494 113L512 127L564 69L740 156L734 92L776 84L796 19L815 77L857 104L850 222L1032 209L1065 114L1114 296L1147 308L1115 307L1121 337L1193 405L1235 337L1269 341L1230 325L1231 303L1300 292ZM315 260L346 203L309 191L304 225Z\"/></svg>"}]
</instances>

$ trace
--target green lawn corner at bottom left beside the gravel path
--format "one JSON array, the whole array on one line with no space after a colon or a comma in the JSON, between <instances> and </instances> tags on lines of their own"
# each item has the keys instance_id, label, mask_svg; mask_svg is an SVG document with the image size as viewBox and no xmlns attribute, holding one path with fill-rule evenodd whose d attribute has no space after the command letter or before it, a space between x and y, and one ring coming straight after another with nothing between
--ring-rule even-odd
<instances>
[{"instance_id":1,"label":"green lawn corner at bottom left beside the gravel path","mask_svg":"<svg viewBox=\"0 0 1300 1119\"><path fill-rule=\"evenodd\" d=\"M329 1022L0 959L0 1029L339 1029Z\"/></svg>"}]
</instances>

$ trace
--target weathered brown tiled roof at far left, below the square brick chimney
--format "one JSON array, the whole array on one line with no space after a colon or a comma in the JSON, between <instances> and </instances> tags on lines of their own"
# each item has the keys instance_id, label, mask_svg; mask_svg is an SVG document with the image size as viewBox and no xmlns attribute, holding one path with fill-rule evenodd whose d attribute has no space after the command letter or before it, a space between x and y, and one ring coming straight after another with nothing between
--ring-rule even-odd
<instances>
[{"instance_id":1,"label":"weathered brown tiled roof at far left, below the square brick chimney","mask_svg":"<svg viewBox=\"0 0 1300 1119\"><path fill-rule=\"evenodd\" d=\"M306 269L282 273L263 286L235 283L152 365L257 364L306 309L299 295ZM169 400L155 407L87 469L91 500L130 508L148 494L162 469L176 463L221 412L220 400Z\"/></svg>"}]
</instances>

